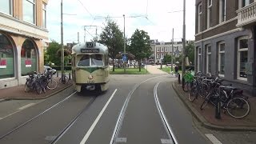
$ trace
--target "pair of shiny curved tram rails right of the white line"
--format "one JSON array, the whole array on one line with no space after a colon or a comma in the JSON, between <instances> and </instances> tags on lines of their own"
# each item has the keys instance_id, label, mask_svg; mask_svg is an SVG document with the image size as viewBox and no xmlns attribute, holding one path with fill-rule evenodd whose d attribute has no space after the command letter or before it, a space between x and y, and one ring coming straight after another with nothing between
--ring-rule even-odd
<instances>
[{"instance_id":1,"label":"pair of shiny curved tram rails right of the white line","mask_svg":"<svg viewBox=\"0 0 256 144\"><path fill-rule=\"evenodd\" d=\"M154 78L161 78L161 77L164 77L164 76L166 76L166 75L158 76L158 77L154 77ZM120 114L118 115L118 120L117 120L116 125L114 127L114 132L112 134L112 138L110 140L110 144L114 144L114 143L117 142L118 134L120 133L120 130L122 129L122 122L124 120L124 117L125 117L125 114L126 114L126 110L127 110L127 107L128 107L129 102L130 102L130 98L131 98L132 94L134 94L134 91L137 90L138 87L142 85L142 83L150 81L150 80L152 80L154 78L148 78L145 81L136 84L134 86L133 90L130 90L130 93L128 94L128 96L126 98L126 101L124 102L124 104L122 106ZM156 97L156 98L157 98L157 87L158 87L158 84L154 87L154 97ZM155 100L155 101L156 101L156 105L157 105L158 109L160 109L161 106L158 105L159 102L157 102L157 100ZM172 141L172 143L178 143L176 138L174 137L174 134L172 133L172 131L170 129L170 126L169 126L168 122L166 122L166 118L163 118L164 114L163 114L162 110L160 110L159 115L160 115L160 117L162 119L162 122L163 122L162 124L166 127L166 133L170 135L170 140Z\"/></svg>"}]
</instances>

